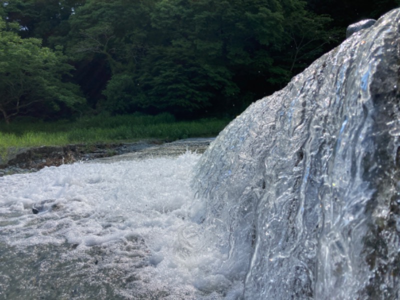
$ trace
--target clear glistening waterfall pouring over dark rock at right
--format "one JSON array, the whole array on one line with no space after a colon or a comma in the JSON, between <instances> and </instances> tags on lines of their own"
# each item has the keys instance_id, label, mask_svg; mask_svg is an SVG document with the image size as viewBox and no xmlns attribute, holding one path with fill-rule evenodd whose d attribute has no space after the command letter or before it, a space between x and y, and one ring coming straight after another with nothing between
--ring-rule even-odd
<instances>
[{"instance_id":1,"label":"clear glistening waterfall pouring over dark rock at right","mask_svg":"<svg viewBox=\"0 0 400 300\"><path fill-rule=\"evenodd\" d=\"M400 298L400 9L250 105L197 164L246 299Z\"/></svg>"}]
</instances>

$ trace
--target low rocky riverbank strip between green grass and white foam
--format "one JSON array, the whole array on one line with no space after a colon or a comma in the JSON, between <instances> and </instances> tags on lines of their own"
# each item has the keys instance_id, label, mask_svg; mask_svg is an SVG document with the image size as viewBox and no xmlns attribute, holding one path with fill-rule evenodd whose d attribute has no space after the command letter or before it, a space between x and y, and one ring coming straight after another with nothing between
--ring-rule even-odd
<instances>
[{"instance_id":1,"label":"low rocky riverbank strip between green grass and white foam","mask_svg":"<svg viewBox=\"0 0 400 300\"><path fill-rule=\"evenodd\" d=\"M70 144L10 148L0 156L0 176L35 172L43 167L59 166L77 161L102 159L140 159L178 155L186 150L202 153L213 138L186 138L173 142L158 139L128 143Z\"/></svg>"}]
</instances>

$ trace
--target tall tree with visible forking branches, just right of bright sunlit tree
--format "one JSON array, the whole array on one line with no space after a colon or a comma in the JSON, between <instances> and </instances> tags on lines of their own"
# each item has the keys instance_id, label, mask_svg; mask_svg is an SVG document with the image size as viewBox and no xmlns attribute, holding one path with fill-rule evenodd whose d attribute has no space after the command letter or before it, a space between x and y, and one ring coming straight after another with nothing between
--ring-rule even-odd
<instances>
[{"instance_id":1,"label":"tall tree with visible forking branches, just right of bright sunlit tree","mask_svg":"<svg viewBox=\"0 0 400 300\"><path fill-rule=\"evenodd\" d=\"M147 50L152 3L86 0L69 18L66 50L75 62L75 79L93 107L113 75L133 76L139 67Z\"/></svg>"}]
</instances>

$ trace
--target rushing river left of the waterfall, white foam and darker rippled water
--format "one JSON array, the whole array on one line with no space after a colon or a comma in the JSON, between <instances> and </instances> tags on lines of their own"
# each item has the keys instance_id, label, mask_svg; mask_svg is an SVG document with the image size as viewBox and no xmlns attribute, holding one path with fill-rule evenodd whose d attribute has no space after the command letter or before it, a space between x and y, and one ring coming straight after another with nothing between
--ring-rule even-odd
<instances>
[{"instance_id":1,"label":"rushing river left of the waterfall, white foam and darker rippled water","mask_svg":"<svg viewBox=\"0 0 400 300\"><path fill-rule=\"evenodd\" d=\"M199 156L1 177L0 298L235 298L242 284L193 203Z\"/></svg>"}]
</instances>

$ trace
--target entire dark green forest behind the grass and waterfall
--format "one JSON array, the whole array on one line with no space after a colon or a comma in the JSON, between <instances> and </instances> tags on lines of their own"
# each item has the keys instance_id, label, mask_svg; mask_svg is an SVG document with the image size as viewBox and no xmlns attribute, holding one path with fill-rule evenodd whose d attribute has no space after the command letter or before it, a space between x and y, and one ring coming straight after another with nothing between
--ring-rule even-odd
<instances>
[{"instance_id":1,"label":"entire dark green forest behind the grass and waterfall","mask_svg":"<svg viewBox=\"0 0 400 300\"><path fill-rule=\"evenodd\" d=\"M400 0L8 0L0 120L231 117Z\"/></svg>"}]
</instances>

